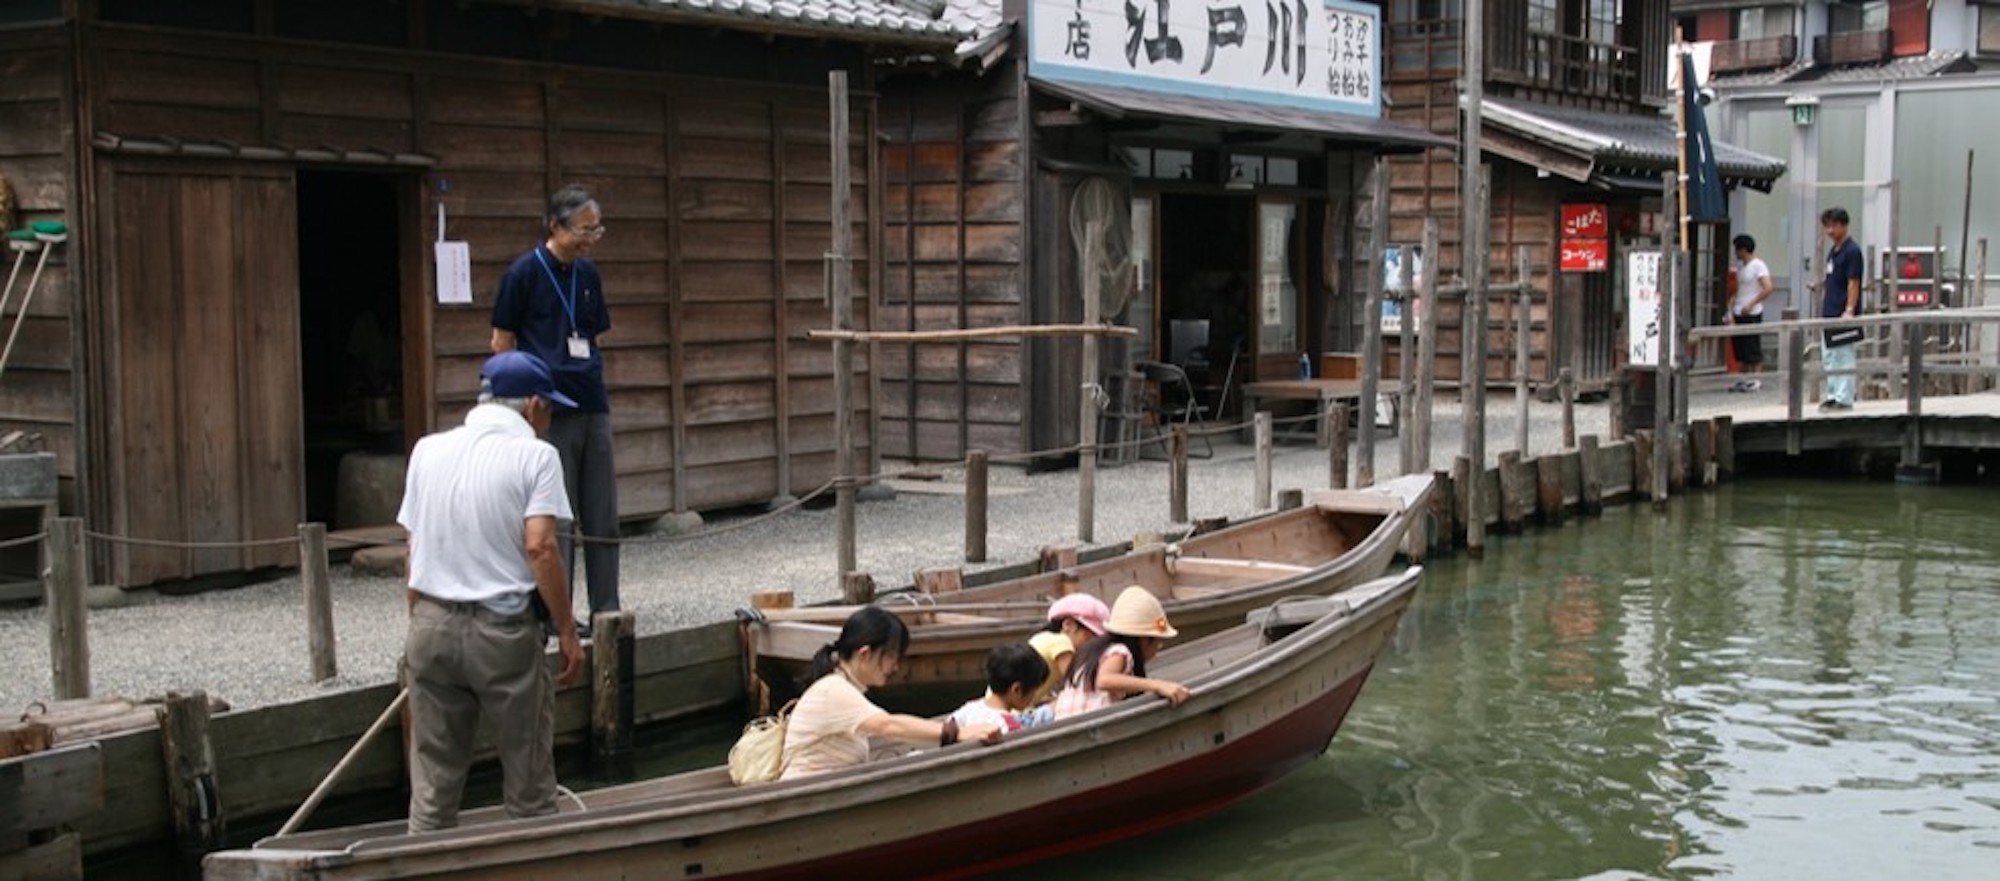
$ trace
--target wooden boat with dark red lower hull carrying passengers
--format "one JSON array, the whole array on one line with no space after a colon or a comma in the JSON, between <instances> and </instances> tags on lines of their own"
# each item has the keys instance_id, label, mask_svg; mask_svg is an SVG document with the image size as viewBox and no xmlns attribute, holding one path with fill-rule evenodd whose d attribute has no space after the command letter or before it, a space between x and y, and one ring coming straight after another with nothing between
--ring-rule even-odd
<instances>
[{"instance_id":1,"label":"wooden boat with dark red lower hull carrying passengers","mask_svg":"<svg viewBox=\"0 0 2000 881\"><path fill-rule=\"evenodd\" d=\"M1280 603L1166 649L1188 685L1026 729L800 781L732 787L722 767L582 793L564 811L404 835L402 823L212 853L208 879L940 877L1074 853L1188 821L1326 751L1420 569Z\"/></svg>"}]
</instances>

